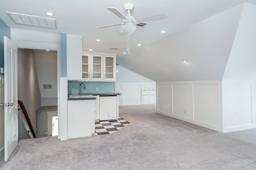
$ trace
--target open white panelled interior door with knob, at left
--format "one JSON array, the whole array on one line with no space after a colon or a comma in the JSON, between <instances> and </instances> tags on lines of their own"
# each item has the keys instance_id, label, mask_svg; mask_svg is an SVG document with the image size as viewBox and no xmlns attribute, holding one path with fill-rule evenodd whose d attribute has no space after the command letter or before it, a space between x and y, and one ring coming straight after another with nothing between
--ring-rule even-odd
<instances>
[{"instance_id":1,"label":"open white panelled interior door with knob, at left","mask_svg":"<svg viewBox=\"0 0 256 170\"><path fill-rule=\"evenodd\" d=\"M4 37L4 160L18 144L18 48Z\"/></svg>"}]
</instances>

